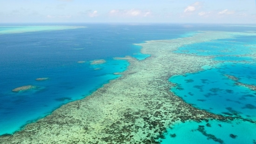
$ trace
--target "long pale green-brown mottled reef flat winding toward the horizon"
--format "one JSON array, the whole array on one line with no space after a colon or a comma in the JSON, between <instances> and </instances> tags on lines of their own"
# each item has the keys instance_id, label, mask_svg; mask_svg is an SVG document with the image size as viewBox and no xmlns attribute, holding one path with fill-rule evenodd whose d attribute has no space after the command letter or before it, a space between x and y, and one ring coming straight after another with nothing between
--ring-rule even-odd
<instances>
[{"instance_id":1,"label":"long pale green-brown mottled reef flat winding toward the horizon","mask_svg":"<svg viewBox=\"0 0 256 144\"><path fill-rule=\"evenodd\" d=\"M193 37L146 41L145 60L126 56L129 69L82 100L71 102L51 115L26 125L2 144L158 144L170 125L187 120L233 120L194 108L170 92L173 75L194 73L217 61L210 56L173 53L198 42L232 38L234 33L203 32Z\"/></svg>"}]
</instances>

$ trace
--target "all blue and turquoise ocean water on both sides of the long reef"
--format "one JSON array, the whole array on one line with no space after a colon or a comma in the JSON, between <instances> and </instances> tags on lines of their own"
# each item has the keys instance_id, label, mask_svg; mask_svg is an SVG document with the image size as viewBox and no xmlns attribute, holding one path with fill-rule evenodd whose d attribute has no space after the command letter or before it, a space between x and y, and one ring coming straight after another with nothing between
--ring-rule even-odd
<instances>
[{"instance_id":1,"label":"all blue and turquoise ocean water on both sides of the long reef","mask_svg":"<svg viewBox=\"0 0 256 144\"><path fill-rule=\"evenodd\" d=\"M255 33L256 30L253 26L203 24L58 25L0 26L0 135L13 134L63 104L83 99L122 76L129 62L116 57L130 55L140 61L150 57L141 54L136 43L191 37L202 31ZM159 142L198 144L198 139L213 144L255 142L253 132L244 135L241 130L256 130L255 40L256 36L237 35L233 39L185 45L174 51L212 56L220 63L210 68L205 66L197 73L170 77L169 81L176 84L170 91L198 109L242 120L177 123L170 126ZM92 64L95 60L104 61ZM37 78L45 79L37 81ZM33 88L12 91L28 85ZM222 129L227 135L218 135ZM189 137L186 139L184 135Z\"/></svg>"}]
</instances>

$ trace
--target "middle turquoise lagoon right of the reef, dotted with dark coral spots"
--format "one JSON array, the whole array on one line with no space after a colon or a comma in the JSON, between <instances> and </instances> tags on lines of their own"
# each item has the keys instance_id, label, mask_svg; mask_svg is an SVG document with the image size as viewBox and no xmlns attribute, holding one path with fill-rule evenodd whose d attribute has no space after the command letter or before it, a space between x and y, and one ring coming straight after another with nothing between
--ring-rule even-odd
<instances>
[{"instance_id":1,"label":"middle turquoise lagoon right of the reef, dotted with dark coral spots","mask_svg":"<svg viewBox=\"0 0 256 144\"><path fill-rule=\"evenodd\" d=\"M171 77L170 81L177 83L171 91L194 107L256 120L256 92L225 76L233 75L240 78L239 82L256 85L255 71L256 65L228 62L217 69Z\"/></svg>"}]
</instances>

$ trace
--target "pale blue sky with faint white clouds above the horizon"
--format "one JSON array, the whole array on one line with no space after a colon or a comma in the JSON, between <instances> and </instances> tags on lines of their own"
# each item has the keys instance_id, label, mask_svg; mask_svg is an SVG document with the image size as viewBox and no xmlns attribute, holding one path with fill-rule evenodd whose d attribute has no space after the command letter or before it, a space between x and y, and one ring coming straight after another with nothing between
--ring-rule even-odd
<instances>
[{"instance_id":1,"label":"pale blue sky with faint white clouds above the horizon","mask_svg":"<svg viewBox=\"0 0 256 144\"><path fill-rule=\"evenodd\" d=\"M256 0L0 0L0 23L256 23Z\"/></svg>"}]
</instances>

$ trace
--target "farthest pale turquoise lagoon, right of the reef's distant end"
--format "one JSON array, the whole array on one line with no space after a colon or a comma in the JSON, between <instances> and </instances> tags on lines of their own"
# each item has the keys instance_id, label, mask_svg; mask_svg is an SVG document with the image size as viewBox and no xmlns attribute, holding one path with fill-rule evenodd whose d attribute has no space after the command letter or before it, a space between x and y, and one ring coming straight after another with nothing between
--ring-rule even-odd
<instances>
[{"instance_id":1,"label":"farthest pale turquoise lagoon, right of the reef's distant end","mask_svg":"<svg viewBox=\"0 0 256 144\"><path fill-rule=\"evenodd\" d=\"M247 55L255 53L255 39L256 36L237 36L234 39L220 39L216 41L194 43L181 47L176 52L196 55L224 55L228 57L233 55Z\"/></svg>"}]
</instances>

